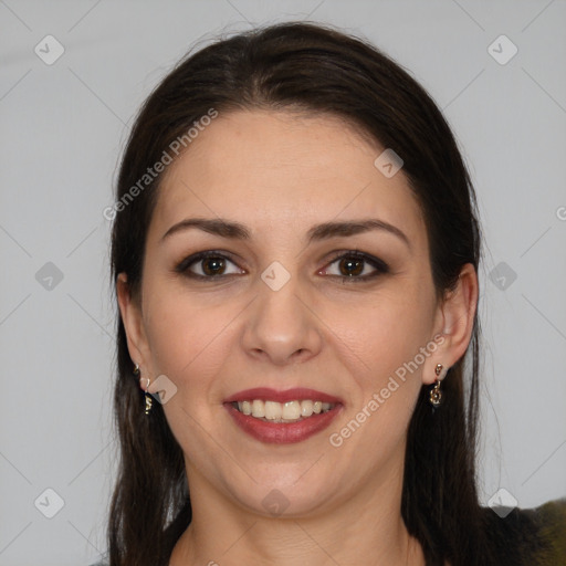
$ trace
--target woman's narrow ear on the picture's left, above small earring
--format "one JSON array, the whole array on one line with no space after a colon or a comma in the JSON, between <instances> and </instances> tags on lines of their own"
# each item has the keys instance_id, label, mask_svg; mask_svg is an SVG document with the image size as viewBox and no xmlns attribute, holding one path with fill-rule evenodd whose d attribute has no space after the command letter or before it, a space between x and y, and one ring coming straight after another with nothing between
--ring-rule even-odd
<instances>
[{"instance_id":1,"label":"woman's narrow ear on the picture's left, above small earring","mask_svg":"<svg viewBox=\"0 0 566 566\"><path fill-rule=\"evenodd\" d=\"M119 273L116 279L116 294L122 321L126 329L129 357L133 360L132 370L134 370L134 364L137 364L139 366L140 376L148 377L151 358L144 328L142 305L132 296L127 275L124 272ZM144 389L142 384L139 387Z\"/></svg>"}]
</instances>

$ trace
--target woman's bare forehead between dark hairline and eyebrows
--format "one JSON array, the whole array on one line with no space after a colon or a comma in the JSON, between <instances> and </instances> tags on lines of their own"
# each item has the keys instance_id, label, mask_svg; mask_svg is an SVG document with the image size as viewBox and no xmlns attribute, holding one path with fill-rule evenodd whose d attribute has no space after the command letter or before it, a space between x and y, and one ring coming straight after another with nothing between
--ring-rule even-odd
<instances>
[{"instance_id":1,"label":"woman's bare forehead between dark hairline and eyebrows","mask_svg":"<svg viewBox=\"0 0 566 566\"><path fill-rule=\"evenodd\" d=\"M238 220L252 232L377 217L422 238L405 176L387 178L374 165L382 150L331 115L220 114L167 169L151 228L159 237L189 214Z\"/></svg>"}]
</instances>

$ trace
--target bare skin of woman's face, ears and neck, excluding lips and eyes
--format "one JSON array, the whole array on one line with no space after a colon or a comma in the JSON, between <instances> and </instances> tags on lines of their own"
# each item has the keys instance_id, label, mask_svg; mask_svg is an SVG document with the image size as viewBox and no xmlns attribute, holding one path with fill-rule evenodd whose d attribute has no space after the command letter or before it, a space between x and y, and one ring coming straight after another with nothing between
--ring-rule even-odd
<instances>
[{"instance_id":1,"label":"bare skin of woman's face, ears and neck, excluding lips and eyes","mask_svg":"<svg viewBox=\"0 0 566 566\"><path fill-rule=\"evenodd\" d=\"M465 353L478 280L464 265L457 290L437 301L421 210L402 169L386 178L374 166L382 149L333 116L239 111L216 118L166 171L142 297L129 294L125 273L117 293L140 387L150 378L155 392L160 375L177 387L164 409L185 453L193 521L172 566L424 564L400 515L407 427L436 365L443 377ZM188 217L239 221L252 237L190 229L161 241ZM367 218L402 230L410 248L384 230L307 245L314 224ZM205 250L229 255L223 279L175 272ZM381 259L389 273L344 282L337 275L348 271L333 254L352 250ZM291 276L279 291L260 276L273 261ZM189 269L202 275L207 266ZM376 271L361 268L358 277ZM331 433L439 334L436 352L333 447ZM265 444L222 405L252 387L310 387L344 407L303 442ZM262 504L272 490L289 503L282 515Z\"/></svg>"}]
</instances>

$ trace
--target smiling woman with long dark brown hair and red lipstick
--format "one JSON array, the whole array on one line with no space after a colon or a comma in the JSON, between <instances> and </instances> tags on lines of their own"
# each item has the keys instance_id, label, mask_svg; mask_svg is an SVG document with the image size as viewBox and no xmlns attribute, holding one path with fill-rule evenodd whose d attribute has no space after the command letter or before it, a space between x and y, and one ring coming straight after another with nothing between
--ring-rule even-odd
<instances>
[{"instance_id":1,"label":"smiling woman with long dark brown hair and red lipstick","mask_svg":"<svg viewBox=\"0 0 566 566\"><path fill-rule=\"evenodd\" d=\"M307 23L188 56L108 212L112 566L565 564L564 504L479 504L475 197L390 59Z\"/></svg>"}]
</instances>

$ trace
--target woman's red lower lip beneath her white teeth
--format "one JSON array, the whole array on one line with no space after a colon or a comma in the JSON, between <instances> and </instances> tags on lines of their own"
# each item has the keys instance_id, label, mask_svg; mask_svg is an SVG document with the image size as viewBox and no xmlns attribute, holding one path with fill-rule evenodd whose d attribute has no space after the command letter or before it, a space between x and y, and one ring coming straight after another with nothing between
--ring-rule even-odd
<instances>
[{"instance_id":1,"label":"woman's red lower lip beneath her white teeth","mask_svg":"<svg viewBox=\"0 0 566 566\"><path fill-rule=\"evenodd\" d=\"M302 442L327 428L342 409L342 405L336 405L329 411L313 415L297 422L269 422L244 415L231 403L226 403L224 407L244 432L260 442L270 444Z\"/></svg>"}]
</instances>

